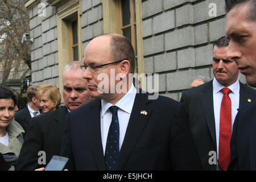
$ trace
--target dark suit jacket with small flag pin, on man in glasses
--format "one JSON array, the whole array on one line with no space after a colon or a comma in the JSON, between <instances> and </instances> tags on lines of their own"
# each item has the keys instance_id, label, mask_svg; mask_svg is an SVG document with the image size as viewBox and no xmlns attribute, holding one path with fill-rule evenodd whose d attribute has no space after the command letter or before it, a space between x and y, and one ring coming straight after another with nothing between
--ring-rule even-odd
<instances>
[{"instance_id":1,"label":"dark suit jacket with small flag pin, on man in glasses","mask_svg":"<svg viewBox=\"0 0 256 182\"><path fill-rule=\"evenodd\" d=\"M170 169L170 131L179 102L137 93L117 170ZM101 100L94 100L67 115L62 148L70 159L68 169L106 170L101 142ZM147 115L141 111L147 111Z\"/></svg>"}]
</instances>

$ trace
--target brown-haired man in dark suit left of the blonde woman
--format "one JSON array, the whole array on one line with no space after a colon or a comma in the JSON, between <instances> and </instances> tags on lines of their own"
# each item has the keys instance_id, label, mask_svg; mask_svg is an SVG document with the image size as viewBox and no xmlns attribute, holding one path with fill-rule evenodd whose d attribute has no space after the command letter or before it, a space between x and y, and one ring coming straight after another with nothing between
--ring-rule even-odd
<instances>
[{"instance_id":1,"label":"brown-haired man in dark suit left of the blonde woman","mask_svg":"<svg viewBox=\"0 0 256 182\"><path fill-rule=\"evenodd\" d=\"M27 98L30 102L27 107L19 110L15 115L15 121L18 122L24 129L23 138L27 134L28 126L30 125L31 118L40 114L40 101L36 98L36 90L38 85L32 85L27 89Z\"/></svg>"}]
</instances>

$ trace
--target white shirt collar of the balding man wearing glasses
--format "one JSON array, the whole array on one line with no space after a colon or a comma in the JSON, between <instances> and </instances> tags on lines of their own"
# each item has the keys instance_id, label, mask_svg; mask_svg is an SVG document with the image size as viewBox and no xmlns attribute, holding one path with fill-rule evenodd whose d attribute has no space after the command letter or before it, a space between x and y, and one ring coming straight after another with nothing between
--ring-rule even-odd
<instances>
[{"instance_id":1,"label":"white shirt collar of the balding man wearing glasses","mask_svg":"<svg viewBox=\"0 0 256 182\"><path fill-rule=\"evenodd\" d=\"M131 114L131 110L133 109L133 103L136 96L137 90L134 85L131 84L131 88L129 91L115 104L115 106L119 107L126 113ZM101 118L104 116L109 107L113 106L113 104L106 102L105 100L101 100Z\"/></svg>"}]
</instances>

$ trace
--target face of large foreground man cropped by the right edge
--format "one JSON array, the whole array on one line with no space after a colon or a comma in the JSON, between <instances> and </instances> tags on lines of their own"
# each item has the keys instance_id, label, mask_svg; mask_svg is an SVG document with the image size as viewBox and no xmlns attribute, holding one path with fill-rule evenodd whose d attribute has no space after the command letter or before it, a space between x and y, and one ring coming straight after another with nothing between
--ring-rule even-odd
<instances>
[{"instance_id":1,"label":"face of large foreground man cropped by the right edge","mask_svg":"<svg viewBox=\"0 0 256 182\"><path fill-rule=\"evenodd\" d=\"M236 61L247 84L256 87L256 20L247 18L248 7L234 7L226 16L227 54Z\"/></svg>"}]
</instances>

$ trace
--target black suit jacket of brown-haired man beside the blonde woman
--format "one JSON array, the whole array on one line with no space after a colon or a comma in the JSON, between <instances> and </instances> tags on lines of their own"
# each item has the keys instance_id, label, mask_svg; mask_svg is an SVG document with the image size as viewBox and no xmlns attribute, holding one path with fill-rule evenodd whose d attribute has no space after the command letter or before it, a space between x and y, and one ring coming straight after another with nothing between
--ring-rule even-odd
<instances>
[{"instance_id":1,"label":"black suit jacket of brown-haired man beside the blonde woman","mask_svg":"<svg viewBox=\"0 0 256 182\"><path fill-rule=\"evenodd\" d=\"M28 130L28 126L30 126L30 111L28 110L27 106L22 110L17 111L14 115L15 121L18 122L24 129L25 133L23 133L23 138L25 138Z\"/></svg>"}]
</instances>

